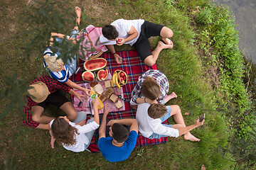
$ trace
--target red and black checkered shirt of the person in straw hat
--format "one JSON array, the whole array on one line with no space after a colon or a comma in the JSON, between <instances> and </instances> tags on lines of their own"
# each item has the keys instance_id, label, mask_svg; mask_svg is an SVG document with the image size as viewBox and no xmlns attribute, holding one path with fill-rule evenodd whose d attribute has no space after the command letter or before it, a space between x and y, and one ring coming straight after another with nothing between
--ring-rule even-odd
<instances>
[{"instance_id":1,"label":"red and black checkered shirt of the person in straw hat","mask_svg":"<svg viewBox=\"0 0 256 170\"><path fill-rule=\"evenodd\" d=\"M45 76L45 77L39 77L38 79L35 79L34 81L31 81L30 84L33 84L37 81L42 81L46 86L48 86L48 90L50 93L54 93L55 91L58 91L59 89L62 89L63 91L66 91L67 93L70 91L71 87L67 86L63 83L60 83L56 79L53 79L51 77ZM38 105L35 101L33 101L30 97L26 96L28 98L28 101L26 103L26 106L24 106L24 113L26 115L26 120L23 120L23 124L27 125L31 128L36 128L40 123L35 122L32 120L31 115L31 108L32 106Z\"/></svg>"}]
</instances>

